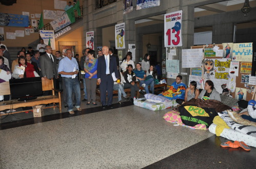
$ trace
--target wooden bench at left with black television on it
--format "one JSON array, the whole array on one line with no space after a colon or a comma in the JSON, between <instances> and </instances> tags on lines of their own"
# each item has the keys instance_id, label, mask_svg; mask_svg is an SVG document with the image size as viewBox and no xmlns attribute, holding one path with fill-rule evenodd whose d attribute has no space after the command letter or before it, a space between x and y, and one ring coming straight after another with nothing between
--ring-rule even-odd
<instances>
[{"instance_id":1,"label":"wooden bench at left with black television on it","mask_svg":"<svg viewBox=\"0 0 256 169\"><path fill-rule=\"evenodd\" d=\"M5 81L3 83L0 83L0 95L10 95L10 85L9 81ZM54 90L53 86L53 79L47 79L47 80L42 80L42 91L49 91L52 90L52 95L50 96L40 96L37 97L34 100L27 100L27 101L17 101L17 100L10 100L10 101L2 101L0 102L0 111L6 110L6 109L15 109L19 107L30 107L30 106L35 106L35 105L40 105L40 104L50 104L53 103L53 106L47 106L45 108L54 108L58 107L59 112L61 112L61 97L60 97L60 92ZM58 96L54 95L54 92L58 92ZM55 103L59 103L59 105L55 105ZM25 112L25 111L33 111L31 110L23 110L23 111L15 111L12 112L12 114L16 114L18 112ZM3 114L1 116L8 115Z\"/></svg>"}]
</instances>

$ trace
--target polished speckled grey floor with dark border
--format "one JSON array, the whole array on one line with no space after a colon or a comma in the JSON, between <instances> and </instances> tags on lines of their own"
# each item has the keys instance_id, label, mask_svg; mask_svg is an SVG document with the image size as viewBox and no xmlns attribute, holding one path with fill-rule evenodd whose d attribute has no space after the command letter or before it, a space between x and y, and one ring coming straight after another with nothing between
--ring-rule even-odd
<instances>
[{"instance_id":1,"label":"polished speckled grey floor with dark border","mask_svg":"<svg viewBox=\"0 0 256 169\"><path fill-rule=\"evenodd\" d=\"M250 152L221 148L226 139L209 131L165 122L162 117L169 109L151 111L131 102L107 110L82 108L75 115L63 112L2 123L0 168L256 166L255 148Z\"/></svg>"}]
</instances>

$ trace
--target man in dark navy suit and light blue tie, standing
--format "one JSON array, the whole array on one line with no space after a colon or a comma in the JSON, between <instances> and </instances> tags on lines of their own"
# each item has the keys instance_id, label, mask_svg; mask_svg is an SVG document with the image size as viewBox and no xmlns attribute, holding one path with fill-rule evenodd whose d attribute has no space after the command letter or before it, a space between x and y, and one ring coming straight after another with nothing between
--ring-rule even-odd
<instances>
[{"instance_id":1,"label":"man in dark navy suit and light blue tie, standing","mask_svg":"<svg viewBox=\"0 0 256 169\"><path fill-rule=\"evenodd\" d=\"M102 108L113 108L113 86L114 80L112 78L112 73L115 72L116 78L118 78L118 70L116 64L116 58L109 55L109 47L103 46L102 57L98 58L98 68L97 77L100 84L100 102ZM106 92L108 92L108 103L106 103Z\"/></svg>"}]
</instances>

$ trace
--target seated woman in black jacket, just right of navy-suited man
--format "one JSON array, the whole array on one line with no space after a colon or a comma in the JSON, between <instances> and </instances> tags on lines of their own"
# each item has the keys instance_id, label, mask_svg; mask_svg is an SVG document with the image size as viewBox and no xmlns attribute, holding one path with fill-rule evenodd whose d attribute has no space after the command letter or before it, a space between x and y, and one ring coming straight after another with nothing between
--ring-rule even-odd
<instances>
[{"instance_id":1,"label":"seated woman in black jacket, just right of navy-suited man","mask_svg":"<svg viewBox=\"0 0 256 169\"><path fill-rule=\"evenodd\" d=\"M124 89L131 88L131 97L130 100L133 101L133 98L135 97L135 91L138 91L139 88L136 84L136 76L133 72L133 65L128 65L127 70L124 72Z\"/></svg>"}]
</instances>

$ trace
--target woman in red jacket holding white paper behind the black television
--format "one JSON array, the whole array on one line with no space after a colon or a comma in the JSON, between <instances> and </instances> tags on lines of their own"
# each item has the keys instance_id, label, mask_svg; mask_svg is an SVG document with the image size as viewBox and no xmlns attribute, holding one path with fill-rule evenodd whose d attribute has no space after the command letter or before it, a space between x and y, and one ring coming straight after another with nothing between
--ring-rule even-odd
<instances>
[{"instance_id":1,"label":"woman in red jacket holding white paper behind the black television","mask_svg":"<svg viewBox=\"0 0 256 169\"><path fill-rule=\"evenodd\" d=\"M25 71L23 70L25 67ZM34 66L27 62L26 57L23 55L18 57L18 65L15 65L12 77L14 78L26 78L26 77L39 77L36 73Z\"/></svg>"}]
</instances>

